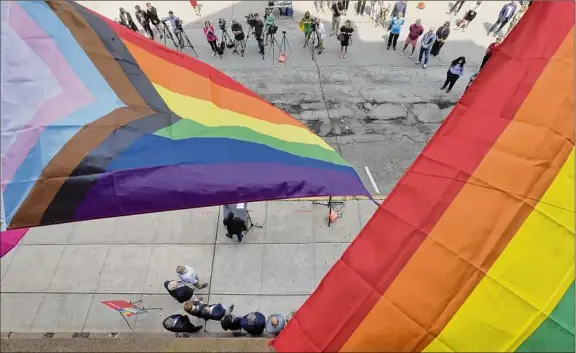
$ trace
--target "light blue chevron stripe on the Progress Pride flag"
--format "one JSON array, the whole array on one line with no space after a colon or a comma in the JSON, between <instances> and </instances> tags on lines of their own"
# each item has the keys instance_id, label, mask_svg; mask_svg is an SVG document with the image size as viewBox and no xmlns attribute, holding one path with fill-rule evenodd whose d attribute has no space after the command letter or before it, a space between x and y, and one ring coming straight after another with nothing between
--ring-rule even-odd
<instances>
[{"instance_id":1,"label":"light blue chevron stripe on the Progress Pride flag","mask_svg":"<svg viewBox=\"0 0 576 353\"><path fill-rule=\"evenodd\" d=\"M84 50L76 43L72 33L46 3L22 1L17 5L56 42L72 70L96 98L96 101L63 117L42 133L4 192L7 224L10 223L35 181L40 177L42 170L84 125L98 120L117 108L126 106L110 88Z\"/></svg>"}]
</instances>

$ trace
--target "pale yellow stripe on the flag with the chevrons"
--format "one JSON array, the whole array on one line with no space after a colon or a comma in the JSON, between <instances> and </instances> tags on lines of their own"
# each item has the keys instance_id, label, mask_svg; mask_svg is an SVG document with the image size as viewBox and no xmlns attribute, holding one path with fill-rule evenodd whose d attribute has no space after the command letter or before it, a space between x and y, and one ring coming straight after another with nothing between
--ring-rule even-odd
<instances>
[{"instance_id":1,"label":"pale yellow stripe on the flag with the chevrons","mask_svg":"<svg viewBox=\"0 0 576 353\"><path fill-rule=\"evenodd\" d=\"M221 109L210 101L184 96L155 83L153 85L170 110L184 119L190 119L209 127L246 127L279 140L317 145L333 151L324 140L306 129L255 119L247 115Z\"/></svg>"}]
</instances>

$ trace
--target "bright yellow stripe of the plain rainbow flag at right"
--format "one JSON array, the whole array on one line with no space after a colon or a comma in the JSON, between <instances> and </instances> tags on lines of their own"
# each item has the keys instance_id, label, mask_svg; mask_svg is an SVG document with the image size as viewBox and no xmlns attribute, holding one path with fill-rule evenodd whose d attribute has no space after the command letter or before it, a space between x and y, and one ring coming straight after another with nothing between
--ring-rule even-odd
<instances>
[{"instance_id":1,"label":"bright yellow stripe of the plain rainbow flag at right","mask_svg":"<svg viewBox=\"0 0 576 353\"><path fill-rule=\"evenodd\" d=\"M488 274L425 351L514 351L573 281L574 151Z\"/></svg>"}]
</instances>

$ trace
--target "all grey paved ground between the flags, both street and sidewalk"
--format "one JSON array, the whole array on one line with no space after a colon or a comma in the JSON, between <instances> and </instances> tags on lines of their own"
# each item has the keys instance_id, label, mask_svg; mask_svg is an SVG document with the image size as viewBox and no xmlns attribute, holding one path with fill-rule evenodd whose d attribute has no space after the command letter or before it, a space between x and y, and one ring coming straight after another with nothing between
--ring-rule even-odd
<instances>
[{"instance_id":1,"label":"all grey paved ground between the flags, both street and sidewalk","mask_svg":"<svg viewBox=\"0 0 576 353\"><path fill-rule=\"evenodd\" d=\"M133 12L145 1L80 3L114 19L118 7ZM295 2L294 20L277 20L279 33L287 31L292 50L286 66L269 54L269 46L265 60L251 51L244 58L229 51L223 59L212 57L201 33L204 20L217 28L219 17L228 19L228 30L231 18L241 20L246 31L244 16L263 13L266 1L200 1L202 17L187 1L152 3L160 15L173 10L184 20L202 61L307 124L341 151L370 192L385 197L477 71L493 41L486 28L504 2L484 1L468 31L453 31L440 57L431 58L426 70L407 55L386 51L385 31L367 16L356 16L351 2L349 15L343 18L351 19L356 28L348 59L340 59L339 44L330 37L325 53L316 57L320 73L310 51L302 49L297 25L306 10L315 13L312 1ZM426 29L455 19L446 14L450 5L446 1L428 1L425 10L417 9L415 2L409 4L399 46L416 18ZM467 7L468 2L461 15ZM319 16L328 30L329 13ZM440 92L448 63L461 55L468 61L464 76L450 94ZM253 221L263 228L253 228L241 244L224 236L217 207L32 229L1 259L1 330L130 331L116 312L100 303L123 299L162 308L129 319L135 332L161 332L164 317L183 312L162 286L175 279L179 264L195 267L201 280L209 282L199 294L210 303L235 304L239 314L253 310L289 314L314 291L376 206L368 200L348 200L343 217L330 228L327 208L312 201L252 203L249 208ZM207 331L220 331L219 324L210 323Z\"/></svg>"}]
</instances>

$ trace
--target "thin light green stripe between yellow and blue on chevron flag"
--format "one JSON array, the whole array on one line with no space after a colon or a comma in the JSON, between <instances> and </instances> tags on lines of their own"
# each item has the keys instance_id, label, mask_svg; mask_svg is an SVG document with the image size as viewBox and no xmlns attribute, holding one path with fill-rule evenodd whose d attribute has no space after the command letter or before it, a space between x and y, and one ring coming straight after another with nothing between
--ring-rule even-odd
<instances>
[{"instance_id":1,"label":"thin light green stripe between yellow and blue on chevron flag","mask_svg":"<svg viewBox=\"0 0 576 353\"><path fill-rule=\"evenodd\" d=\"M287 142L260 134L251 129L237 126L207 127L190 119L182 119L171 126L158 130L155 135L172 140L194 137L220 137L246 142L255 142L274 149L291 153L304 158L313 158L348 167L348 163L334 150L305 143Z\"/></svg>"}]
</instances>

